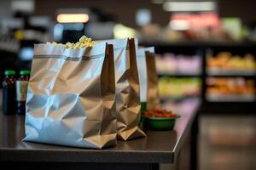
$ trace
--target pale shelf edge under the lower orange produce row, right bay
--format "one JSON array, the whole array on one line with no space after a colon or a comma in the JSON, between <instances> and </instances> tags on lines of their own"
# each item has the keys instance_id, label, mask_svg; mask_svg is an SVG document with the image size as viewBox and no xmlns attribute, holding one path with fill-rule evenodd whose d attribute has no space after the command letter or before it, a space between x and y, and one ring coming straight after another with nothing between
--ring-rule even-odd
<instances>
[{"instance_id":1,"label":"pale shelf edge under the lower orange produce row, right bay","mask_svg":"<svg viewBox=\"0 0 256 170\"><path fill-rule=\"evenodd\" d=\"M210 102L254 102L253 94L206 94Z\"/></svg>"}]
</instances>

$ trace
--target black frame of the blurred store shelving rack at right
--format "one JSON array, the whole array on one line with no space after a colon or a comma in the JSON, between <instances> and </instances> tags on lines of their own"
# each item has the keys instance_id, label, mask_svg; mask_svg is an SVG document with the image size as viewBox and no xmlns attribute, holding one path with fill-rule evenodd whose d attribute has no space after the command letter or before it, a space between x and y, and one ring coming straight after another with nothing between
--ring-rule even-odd
<instances>
[{"instance_id":1,"label":"black frame of the blurred store shelving rack at right","mask_svg":"<svg viewBox=\"0 0 256 170\"><path fill-rule=\"evenodd\" d=\"M243 69L212 69L207 68L209 51L216 55L227 51L231 54L253 54L256 58L256 42L141 42L142 46L154 46L156 54L186 54L201 56L201 74L160 73L160 77L198 77L201 78L201 112L203 113L253 113L256 111L256 94L207 94L207 78L239 77L254 81L256 89L256 71ZM183 98L186 99L187 96ZM166 99L166 98L165 98Z\"/></svg>"}]
</instances>

